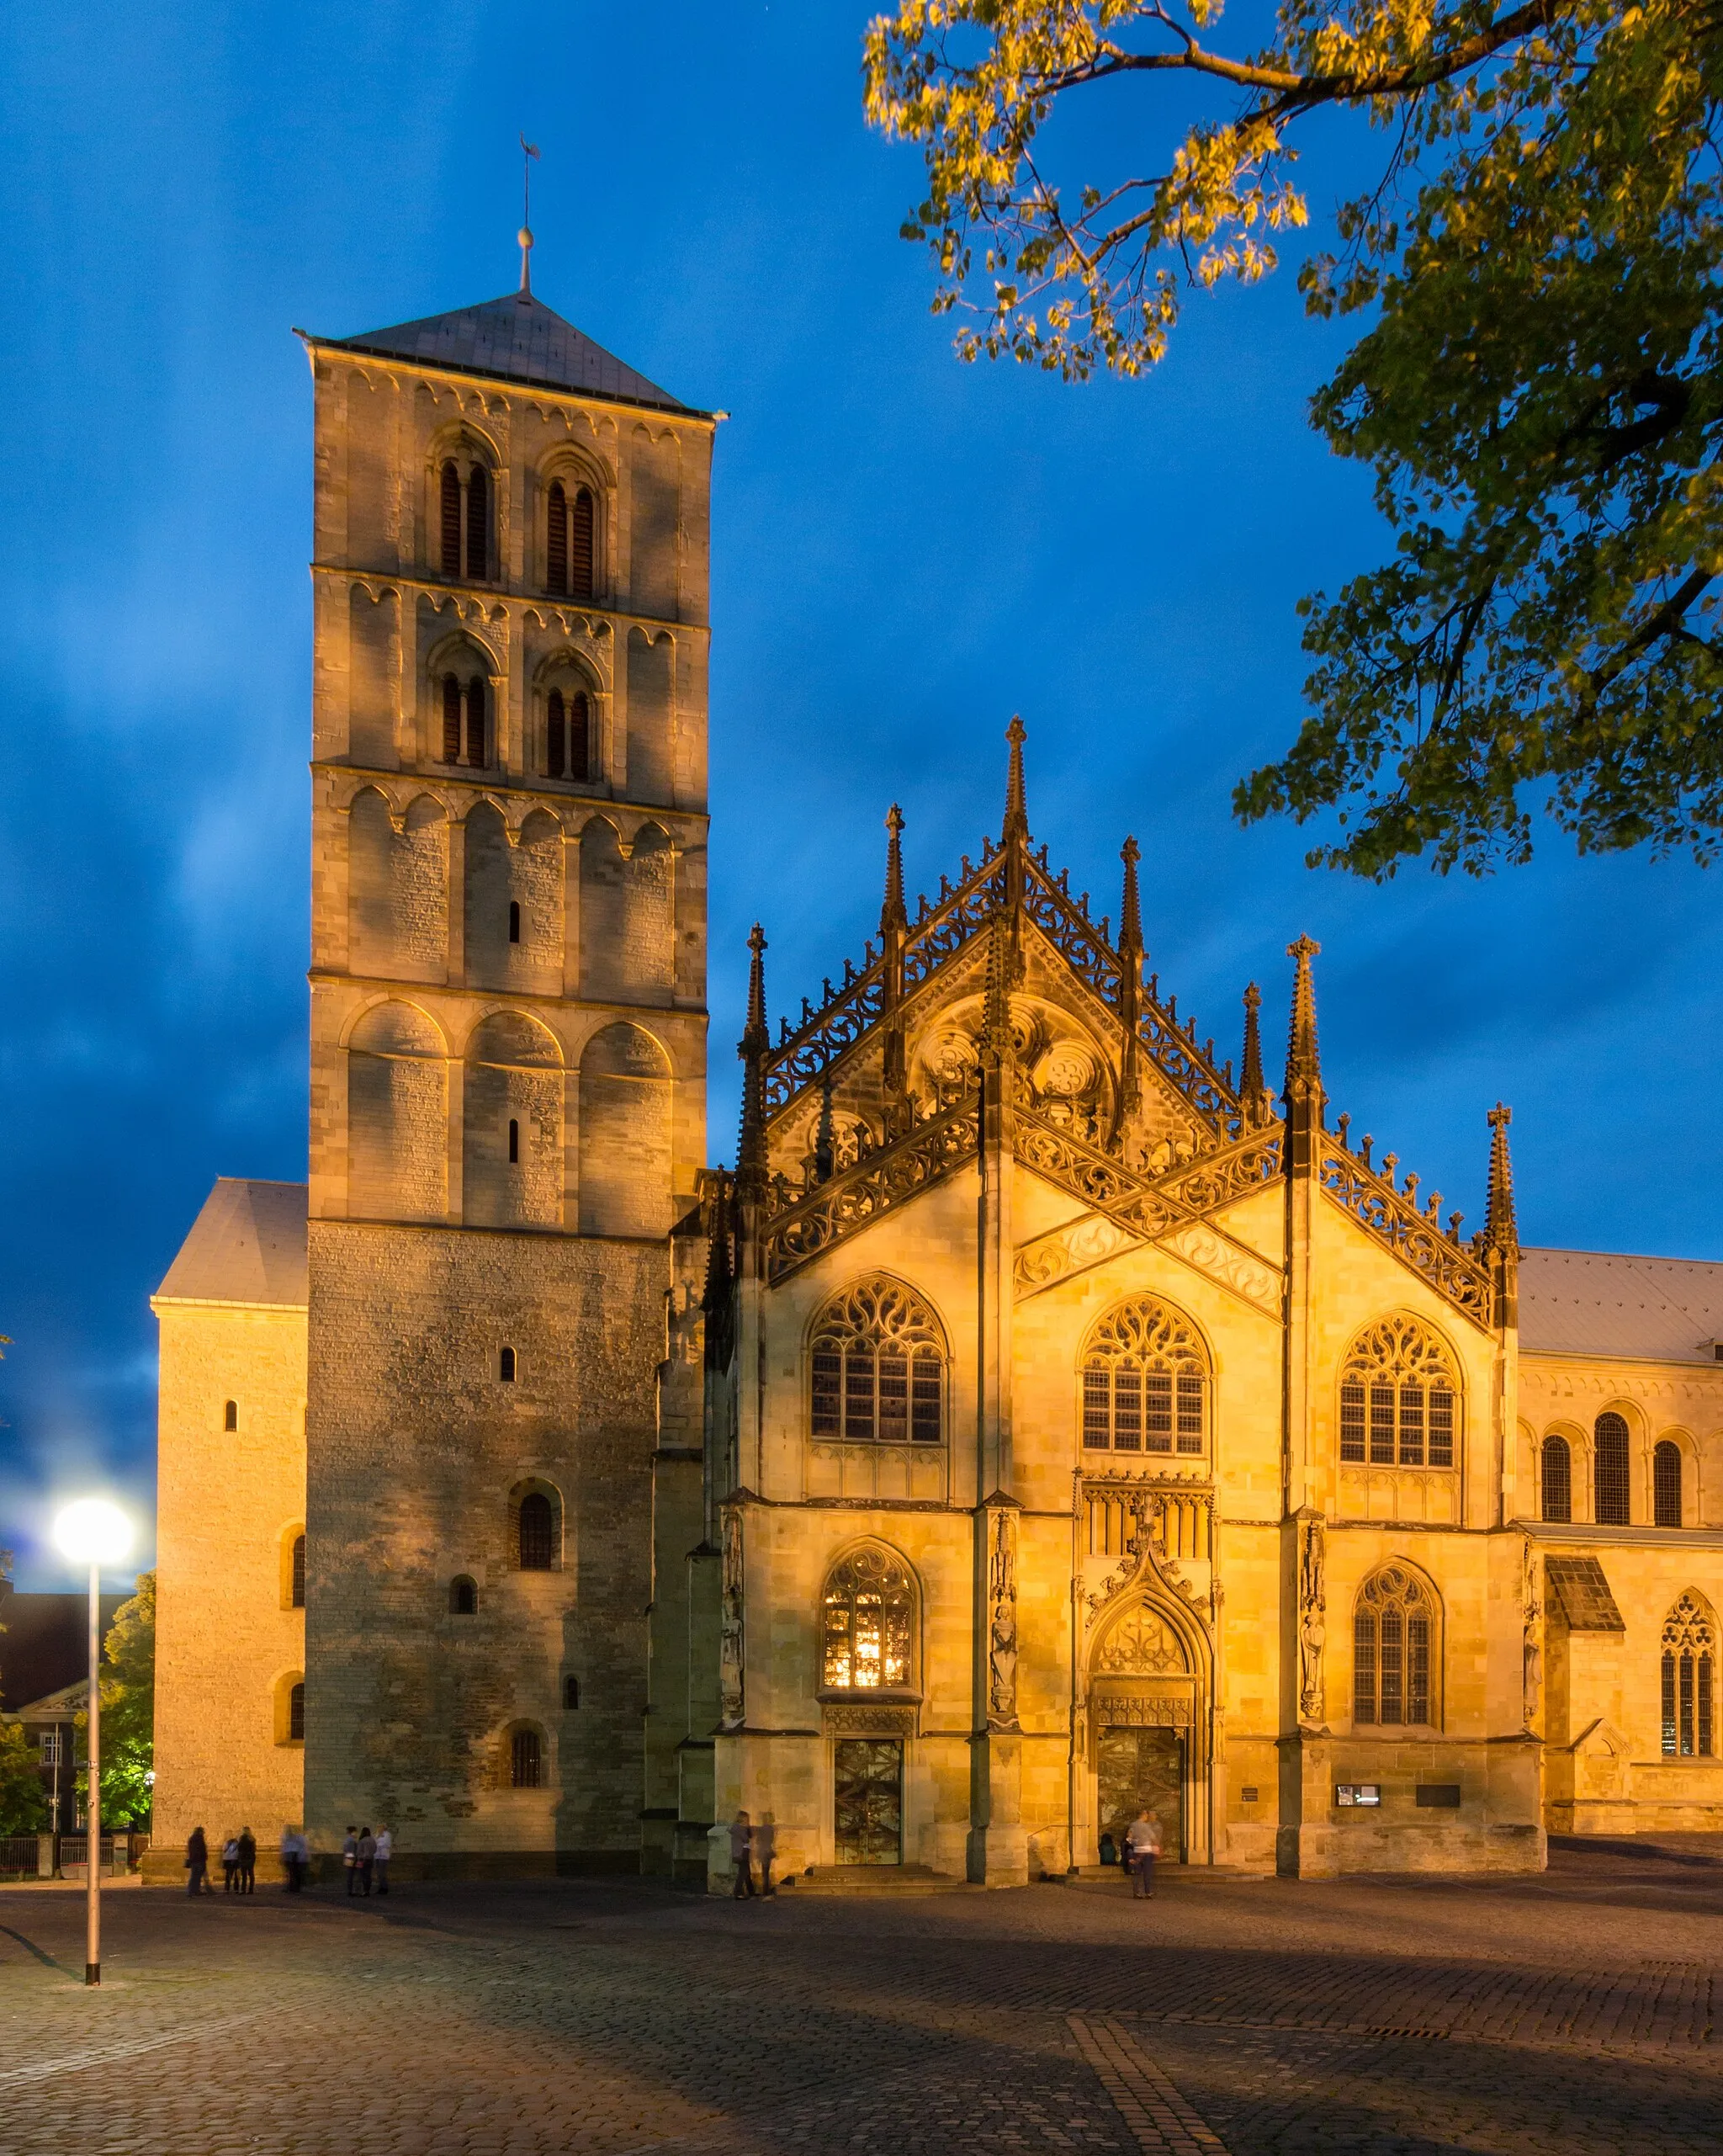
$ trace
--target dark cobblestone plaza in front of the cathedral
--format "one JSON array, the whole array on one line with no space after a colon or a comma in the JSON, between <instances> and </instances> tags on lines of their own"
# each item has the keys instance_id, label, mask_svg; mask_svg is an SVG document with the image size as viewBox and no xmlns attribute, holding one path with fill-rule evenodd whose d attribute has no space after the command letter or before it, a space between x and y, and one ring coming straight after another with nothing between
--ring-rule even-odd
<instances>
[{"instance_id":1,"label":"dark cobblestone plaza in front of the cathedral","mask_svg":"<svg viewBox=\"0 0 1723 2156\"><path fill-rule=\"evenodd\" d=\"M0 2156L1714 2152L1723 1850L733 1904L0 1893Z\"/></svg>"}]
</instances>

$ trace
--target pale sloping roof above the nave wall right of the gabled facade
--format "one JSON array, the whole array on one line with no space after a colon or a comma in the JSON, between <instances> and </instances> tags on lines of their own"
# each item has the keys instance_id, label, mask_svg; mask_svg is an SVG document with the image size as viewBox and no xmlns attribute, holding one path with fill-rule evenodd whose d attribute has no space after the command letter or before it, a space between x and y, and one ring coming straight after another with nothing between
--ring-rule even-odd
<instances>
[{"instance_id":1,"label":"pale sloping roof above the nave wall right of the gabled facade","mask_svg":"<svg viewBox=\"0 0 1723 2156\"><path fill-rule=\"evenodd\" d=\"M1611 1250L1520 1253L1520 1348L1714 1363L1723 1266Z\"/></svg>"}]
</instances>

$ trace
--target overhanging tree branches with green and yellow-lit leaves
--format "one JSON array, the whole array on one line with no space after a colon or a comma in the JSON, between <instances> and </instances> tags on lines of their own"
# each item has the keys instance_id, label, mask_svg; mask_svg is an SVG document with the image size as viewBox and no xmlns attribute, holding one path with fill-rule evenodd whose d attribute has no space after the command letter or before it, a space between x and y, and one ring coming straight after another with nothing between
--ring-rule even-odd
<instances>
[{"instance_id":1,"label":"overhanging tree branches with green and yellow-lit leaves","mask_svg":"<svg viewBox=\"0 0 1723 2156\"><path fill-rule=\"evenodd\" d=\"M1522 860L1542 804L1583 849L1712 858L1723 17L1281 0L1268 47L1223 56L1201 43L1218 13L901 0L871 26L867 110L923 144L906 235L934 246L936 306L975 308L960 351L1139 373L1184 287L1253 282L1305 224L1300 123L1363 112L1378 181L1300 289L1315 315L1371 310L1313 423L1371 464L1397 545L1302 604L1311 716L1236 806L1339 806L1311 860L1378 877L1421 852ZM1229 110L1167 108L1158 172L1067 196L1044 168L1057 101L1167 73Z\"/></svg>"}]
</instances>

